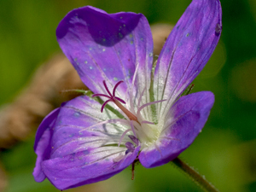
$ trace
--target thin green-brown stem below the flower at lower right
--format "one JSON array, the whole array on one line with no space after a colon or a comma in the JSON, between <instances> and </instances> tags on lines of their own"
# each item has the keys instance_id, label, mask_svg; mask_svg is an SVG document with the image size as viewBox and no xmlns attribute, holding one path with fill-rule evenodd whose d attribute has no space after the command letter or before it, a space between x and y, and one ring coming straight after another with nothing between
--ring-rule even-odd
<instances>
[{"instance_id":1,"label":"thin green-brown stem below the flower at lower right","mask_svg":"<svg viewBox=\"0 0 256 192\"><path fill-rule=\"evenodd\" d=\"M192 181L194 181L198 186L201 187L201 189L211 192L218 191L218 189L216 189L212 185L212 183L209 183L204 176L201 176L198 172L195 171L195 169L193 169L191 166L189 166L187 163L183 162L179 158L175 158L170 162L174 163L178 168L180 168L185 173L185 175L189 176Z\"/></svg>"}]
</instances>

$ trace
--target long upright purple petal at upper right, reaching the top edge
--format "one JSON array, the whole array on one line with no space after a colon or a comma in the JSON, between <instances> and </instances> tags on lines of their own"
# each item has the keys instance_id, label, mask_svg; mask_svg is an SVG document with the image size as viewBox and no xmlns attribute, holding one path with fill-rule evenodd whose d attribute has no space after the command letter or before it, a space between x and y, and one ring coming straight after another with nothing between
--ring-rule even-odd
<instances>
[{"instance_id":1,"label":"long upright purple petal at upper right, reaching the top edge","mask_svg":"<svg viewBox=\"0 0 256 192\"><path fill-rule=\"evenodd\" d=\"M218 0L193 0L177 21L154 73L154 96L156 100L166 99L158 104L159 115L168 112L177 96L206 65L218 44L221 17Z\"/></svg>"}]
</instances>

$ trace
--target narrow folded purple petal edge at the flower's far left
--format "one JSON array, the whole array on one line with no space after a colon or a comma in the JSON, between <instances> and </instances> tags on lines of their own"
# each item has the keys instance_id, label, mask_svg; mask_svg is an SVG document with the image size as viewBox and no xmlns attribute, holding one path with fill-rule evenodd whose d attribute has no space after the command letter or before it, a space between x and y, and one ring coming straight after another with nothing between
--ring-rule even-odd
<instances>
[{"instance_id":1,"label":"narrow folded purple petal edge at the flower's far left","mask_svg":"<svg viewBox=\"0 0 256 192\"><path fill-rule=\"evenodd\" d=\"M34 150L38 155L33 176L37 182L44 181L45 175L42 172L41 162L49 158L49 141L51 138L50 128L54 125L55 119L60 112L60 108L56 108L49 113L38 127Z\"/></svg>"}]
</instances>

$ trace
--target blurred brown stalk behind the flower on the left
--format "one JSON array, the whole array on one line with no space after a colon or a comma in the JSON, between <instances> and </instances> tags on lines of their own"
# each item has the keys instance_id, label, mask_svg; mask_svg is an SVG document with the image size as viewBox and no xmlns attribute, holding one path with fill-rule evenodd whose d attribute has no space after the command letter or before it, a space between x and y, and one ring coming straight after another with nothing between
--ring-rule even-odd
<instances>
[{"instance_id":1,"label":"blurred brown stalk behind the flower on the left","mask_svg":"<svg viewBox=\"0 0 256 192\"><path fill-rule=\"evenodd\" d=\"M26 139L47 113L73 97L61 94L61 90L71 88L85 86L64 55L55 55L39 67L30 84L0 112L0 148Z\"/></svg>"}]
</instances>

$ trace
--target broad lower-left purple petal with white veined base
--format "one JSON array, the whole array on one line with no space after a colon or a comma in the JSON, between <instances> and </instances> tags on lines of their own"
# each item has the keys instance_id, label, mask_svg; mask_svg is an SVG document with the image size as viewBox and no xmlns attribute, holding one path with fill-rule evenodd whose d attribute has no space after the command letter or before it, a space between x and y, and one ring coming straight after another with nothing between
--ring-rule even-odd
<instances>
[{"instance_id":1,"label":"broad lower-left purple petal with white veined base","mask_svg":"<svg viewBox=\"0 0 256 192\"><path fill-rule=\"evenodd\" d=\"M100 103L79 96L61 106L54 125L42 123L49 129L39 134L43 139L47 136L44 139L47 148L41 153L48 155L38 157L38 164L43 170L40 173L56 188L68 189L107 179L136 159L140 146L126 152L125 143L132 142L130 137L123 137L118 147L129 123L125 125L125 119L119 122L122 119L118 120L119 113L113 108L105 108L105 113L100 109Z\"/></svg>"}]
</instances>

